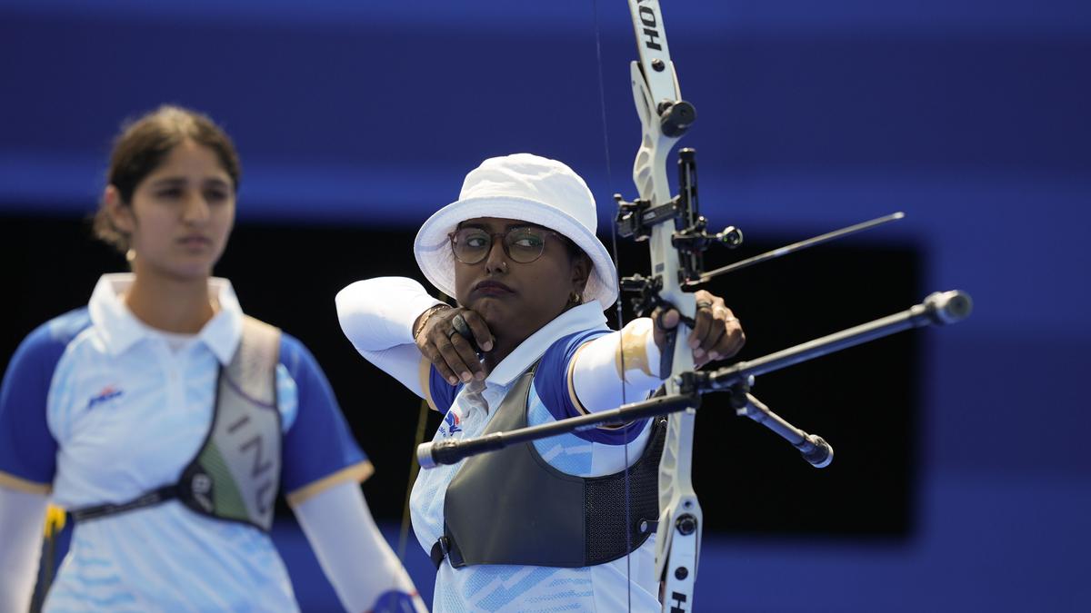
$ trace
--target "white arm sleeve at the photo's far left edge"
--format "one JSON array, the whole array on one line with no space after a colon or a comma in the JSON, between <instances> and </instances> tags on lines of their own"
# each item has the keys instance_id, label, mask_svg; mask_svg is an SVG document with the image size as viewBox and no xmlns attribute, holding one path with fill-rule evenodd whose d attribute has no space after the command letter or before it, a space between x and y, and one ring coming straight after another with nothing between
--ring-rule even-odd
<instances>
[{"instance_id":1,"label":"white arm sleeve at the photo's far left edge","mask_svg":"<svg viewBox=\"0 0 1091 613\"><path fill-rule=\"evenodd\" d=\"M49 496L0 486L0 611L31 608Z\"/></svg>"}]
</instances>

